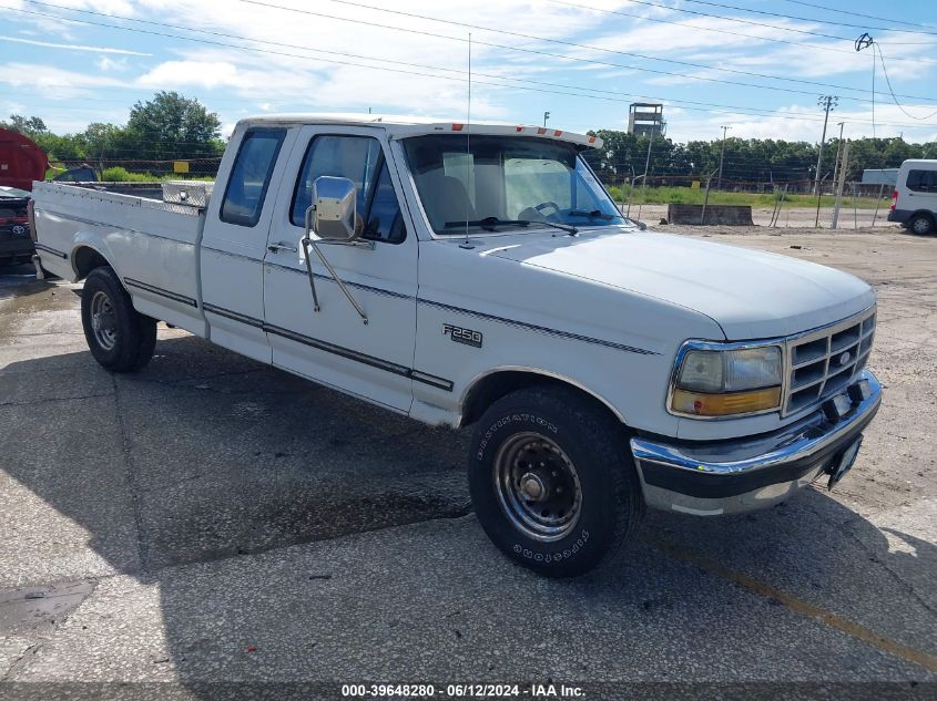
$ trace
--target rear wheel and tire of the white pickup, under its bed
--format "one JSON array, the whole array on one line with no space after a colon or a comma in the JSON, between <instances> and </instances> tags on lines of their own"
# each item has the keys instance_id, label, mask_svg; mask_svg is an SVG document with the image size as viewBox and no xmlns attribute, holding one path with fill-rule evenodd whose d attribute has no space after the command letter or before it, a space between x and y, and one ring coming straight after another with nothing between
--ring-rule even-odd
<instances>
[{"instance_id":1,"label":"rear wheel and tire of the white pickup, under its bed","mask_svg":"<svg viewBox=\"0 0 937 701\"><path fill-rule=\"evenodd\" d=\"M94 268L85 278L81 324L91 354L108 370L140 370L153 357L156 320L133 308L112 268Z\"/></svg>"}]
</instances>

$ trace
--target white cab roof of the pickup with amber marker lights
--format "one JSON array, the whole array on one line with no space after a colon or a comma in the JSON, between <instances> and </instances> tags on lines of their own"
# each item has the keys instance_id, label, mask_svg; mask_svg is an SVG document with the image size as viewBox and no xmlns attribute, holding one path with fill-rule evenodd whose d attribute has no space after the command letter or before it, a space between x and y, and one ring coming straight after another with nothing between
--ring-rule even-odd
<instances>
[{"instance_id":1,"label":"white cab roof of the pickup with amber marker lights","mask_svg":"<svg viewBox=\"0 0 937 701\"><path fill-rule=\"evenodd\" d=\"M424 116L386 114L264 114L241 120L238 128L264 125L305 125L335 124L342 126L380 127L388 138L406 138L426 134L487 134L498 136L539 136L554 141L569 142L578 146L598 148L602 140L588 134L577 134L566 130L530 124L508 124L505 122L471 122L464 120L439 120Z\"/></svg>"}]
</instances>

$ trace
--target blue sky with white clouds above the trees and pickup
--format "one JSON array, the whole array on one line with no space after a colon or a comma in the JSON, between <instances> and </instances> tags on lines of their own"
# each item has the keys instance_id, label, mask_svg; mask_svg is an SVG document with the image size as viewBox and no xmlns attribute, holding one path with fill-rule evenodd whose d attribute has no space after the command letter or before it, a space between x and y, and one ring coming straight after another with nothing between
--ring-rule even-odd
<instances>
[{"instance_id":1,"label":"blue sky with white clouds above the trees and pickup","mask_svg":"<svg viewBox=\"0 0 937 701\"><path fill-rule=\"evenodd\" d=\"M864 31L900 106L880 62L873 94ZM475 118L624 128L659 101L675 141L816 142L833 94L831 134L937 141L934 0L0 0L0 115L72 132L175 90L225 132L264 112L464 118L469 33Z\"/></svg>"}]
</instances>

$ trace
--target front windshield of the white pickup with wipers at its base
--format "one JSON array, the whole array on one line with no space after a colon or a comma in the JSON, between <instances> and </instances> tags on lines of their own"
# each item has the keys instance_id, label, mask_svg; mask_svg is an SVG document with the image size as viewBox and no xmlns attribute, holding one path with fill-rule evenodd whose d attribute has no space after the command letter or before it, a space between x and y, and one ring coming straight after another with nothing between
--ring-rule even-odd
<instances>
[{"instance_id":1,"label":"front windshield of the white pickup with wipers at its base","mask_svg":"<svg viewBox=\"0 0 937 701\"><path fill-rule=\"evenodd\" d=\"M625 219L571 144L440 134L404 142L437 234L511 226L621 225ZM570 228L576 233L576 228Z\"/></svg>"}]
</instances>

